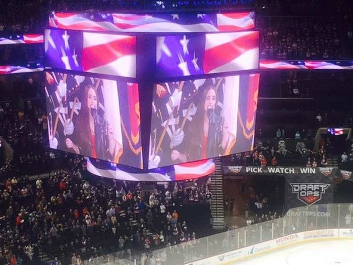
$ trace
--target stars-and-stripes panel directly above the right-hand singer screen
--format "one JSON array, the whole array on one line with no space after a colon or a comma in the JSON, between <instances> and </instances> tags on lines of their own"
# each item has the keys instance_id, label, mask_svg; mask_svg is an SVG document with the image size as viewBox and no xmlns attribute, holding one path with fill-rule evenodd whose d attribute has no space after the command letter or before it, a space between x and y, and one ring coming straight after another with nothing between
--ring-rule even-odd
<instances>
[{"instance_id":1,"label":"stars-and-stripes panel directly above the right-hand singer screen","mask_svg":"<svg viewBox=\"0 0 353 265\"><path fill-rule=\"evenodd\" d=\"M258 41L258 31L157 37L157 76L257 69Z\"/></svg>"}]
</instances>

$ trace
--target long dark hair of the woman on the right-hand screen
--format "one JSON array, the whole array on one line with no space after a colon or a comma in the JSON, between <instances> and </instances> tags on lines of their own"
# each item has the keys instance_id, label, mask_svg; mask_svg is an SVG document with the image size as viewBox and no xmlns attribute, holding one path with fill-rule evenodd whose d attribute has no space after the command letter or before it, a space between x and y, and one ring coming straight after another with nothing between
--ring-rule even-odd
<instances>
[{"instance_id":1,"label":"long dark hair of the woman on the right-hand screen","mask_svg":"<svg viewBox=\"0 0 353 265\"><path fill-rule=\"evenodd\" d=\"M206 87L202 93L201 96L199 98L199 102L197 104L197 110L196 113L193 117L193 120L191 122L191 124L189 125L189 130L188 133L190 135L190 152L192 153L195 147L202 147L202 142L203 142L203 136L204 136L204 120L205 120L205 115L207 115L207 111L205 111L205 101L206 101L206 96L208 91L210 91L211 89L214 90L214 92L216 93L216 104L215 104L215 109L217 107L217 103L218 103L218 94L217 94L217 90L214 86L208 86ZM194 150L195 151L195 150ZM189 152L189 154L191 154Z\"/></svg>"}]
</instances>

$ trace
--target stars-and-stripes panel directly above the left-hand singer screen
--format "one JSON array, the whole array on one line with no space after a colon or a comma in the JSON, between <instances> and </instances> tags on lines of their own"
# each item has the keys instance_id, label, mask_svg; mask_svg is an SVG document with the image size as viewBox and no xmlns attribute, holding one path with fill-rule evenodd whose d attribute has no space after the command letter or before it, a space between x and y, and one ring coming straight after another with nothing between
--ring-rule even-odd
<instances>
[{"instance_id":1,"label":"stars-and-stripes panel directly above the left-hand singer screen","mask_svg":"<svg viewBox=\"0 0 353 265\"><path fill-rule=\"evenodd\" d=\"M136 37L45 30L45 55L52 68L136 77Z\"/></svg>"}]
</instances>

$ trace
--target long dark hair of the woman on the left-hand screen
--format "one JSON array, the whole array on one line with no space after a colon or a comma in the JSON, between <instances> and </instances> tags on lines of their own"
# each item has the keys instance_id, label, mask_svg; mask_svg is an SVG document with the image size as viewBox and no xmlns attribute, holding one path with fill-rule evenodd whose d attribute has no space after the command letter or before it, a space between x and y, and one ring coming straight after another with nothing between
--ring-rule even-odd
<instances>
[{"instance_id":1,"label":"long dark hair of the woman on the left-hand screen","mask_svg":"<svg viewBox=\"0 0 353 265\"><path fill-rule=\"evenodd\" d=\"M81 99L81 110L77 117L77 126L75 128L75 131L78 132L77 145L85 150L91 141L91 138L90 138L91 130L89 127L90 106L87 105L88 91L90 89L93 89L93 91L96 93L97 107L99 106L99 97L98 97L97 91L94 89L94 87L91 84L86 85ZM91 155L91 154L85 154L85 155Z\"/></svg>"}]
</instances>

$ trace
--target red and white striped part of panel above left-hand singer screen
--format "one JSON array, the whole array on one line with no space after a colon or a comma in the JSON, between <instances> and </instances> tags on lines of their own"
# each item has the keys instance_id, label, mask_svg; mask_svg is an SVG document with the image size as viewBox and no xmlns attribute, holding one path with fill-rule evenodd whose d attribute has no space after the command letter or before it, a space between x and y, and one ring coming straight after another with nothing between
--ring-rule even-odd
<instances>
[{"instance_id":1,"label":"red and white striped part of panel above left-hand singer screen","mask_svg":"<svg viewBox=\"0 0 353 265\"><path fill-rule=\"evenodd\" d=\"M136 77L136 37L84 32L82 68L90 73Z\"/></svg>"}]
</instances>

